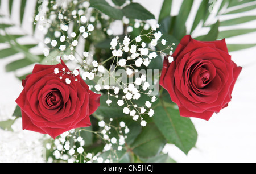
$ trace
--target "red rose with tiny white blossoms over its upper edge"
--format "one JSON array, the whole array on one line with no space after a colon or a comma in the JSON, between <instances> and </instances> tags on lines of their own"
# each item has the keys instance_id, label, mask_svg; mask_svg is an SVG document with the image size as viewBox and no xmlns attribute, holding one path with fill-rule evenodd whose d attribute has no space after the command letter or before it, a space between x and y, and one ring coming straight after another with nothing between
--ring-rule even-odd
<instances>
[{"instance_id":1,"label":"red rose with tiny white blossoms over its upper edge","mask_svg":"<svg viewBox=\"0 0 256 174\"><path fill-rule=\"evenodd\" d=\"M72 73L62 60L57 65L35 65L22 85L16 103L22 111L23 130L52 138L90 126L89 116L100 106L100 95L89 90L79 73Z\"/></svg>"}]
</instances>

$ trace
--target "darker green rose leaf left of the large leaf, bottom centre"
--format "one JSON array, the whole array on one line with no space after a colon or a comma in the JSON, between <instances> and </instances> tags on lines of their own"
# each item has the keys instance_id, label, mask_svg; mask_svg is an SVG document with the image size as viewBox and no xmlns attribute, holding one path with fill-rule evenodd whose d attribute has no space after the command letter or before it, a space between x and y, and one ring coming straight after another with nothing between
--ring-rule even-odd
<instances>
[{"instance_id":1,"label":"darker green rose leaf left of the large leaf, bottom centre","mask_svg":"<svg viewBox=\"0 0 256 174\"><path fill-rule=\"evenodd\" d=\"M141 158L150 158L158 155L162 150L166 140L154 123L148 123L143 127L141 134L137 136L131 149L134 154Z\"/></svg>"}]
</instances>

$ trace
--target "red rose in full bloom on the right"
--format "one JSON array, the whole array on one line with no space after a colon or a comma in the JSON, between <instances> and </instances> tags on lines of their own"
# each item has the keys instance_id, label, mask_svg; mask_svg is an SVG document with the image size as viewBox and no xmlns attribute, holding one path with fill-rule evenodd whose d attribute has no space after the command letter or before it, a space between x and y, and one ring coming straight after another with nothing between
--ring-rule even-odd
<instances>
[{"instance_id":1,"label":"red rose in full bloom on the right","mask_svg":"<svg viewBox=\"0 0 256 174\"><path fill-rule=\"evenodd\" d=\"M209 120L228 106L242 67L231 60L225 39L200 42L185 36L172 55L164 59L160 85L179 106L183 117Z\"/></svg>"}]
</instances>

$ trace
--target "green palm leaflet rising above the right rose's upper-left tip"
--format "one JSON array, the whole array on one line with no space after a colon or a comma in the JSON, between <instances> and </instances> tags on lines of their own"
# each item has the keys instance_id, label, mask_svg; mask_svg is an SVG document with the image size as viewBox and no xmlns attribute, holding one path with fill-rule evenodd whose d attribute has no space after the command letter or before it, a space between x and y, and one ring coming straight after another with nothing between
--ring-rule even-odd
<instances>
[{"instance_id":1,"label":"green palm leaflet rising above the right rose's upper-left tip","mask_svg":"<svg viewBox=\"0 0 256 174\"><path fill-rule=\"evenodd\" d=\"M187 34L185 23L187 22L188 16L192 9L193 2L193 0L183 1L180 7L180 11L179 14L177 15L173 33L174 37L178 40L181 40Z\"/></svg>"}]
</instances>

